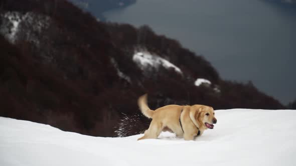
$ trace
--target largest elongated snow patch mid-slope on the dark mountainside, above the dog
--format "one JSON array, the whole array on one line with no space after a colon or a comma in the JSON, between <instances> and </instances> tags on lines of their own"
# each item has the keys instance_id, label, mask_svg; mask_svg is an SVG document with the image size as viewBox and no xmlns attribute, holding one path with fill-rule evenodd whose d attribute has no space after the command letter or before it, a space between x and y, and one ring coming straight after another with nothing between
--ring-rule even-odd
<instances>
[{"instance_id":1,"label":"largest elongated snow patch mid-slope on the dark mountainside, above the dog","mask_svg":"<svg viewBox=\"0 0 296 166\"><path fill-rule=\"evenodd\" d=\"M149 52L146 51L140 51L136 52L133 57L133 61L138 64L138 66L145 70L147 67L154 67L159 68L159 66L163 66L165 68L174 68L176 72L181 73L182 71L179 67L171 63L170 61L158 56L158 55L152 55Z\"/></svg>"}]
</instances>

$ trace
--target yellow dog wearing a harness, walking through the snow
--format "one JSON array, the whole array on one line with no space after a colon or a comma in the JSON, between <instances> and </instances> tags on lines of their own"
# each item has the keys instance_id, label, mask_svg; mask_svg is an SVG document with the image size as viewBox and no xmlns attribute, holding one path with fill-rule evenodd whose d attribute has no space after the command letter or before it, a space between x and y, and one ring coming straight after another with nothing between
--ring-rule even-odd
<instances>
[{"instance_id":1,"label":"yellow dog wearing a harness, walking through the snow","mask_svg":"<svg viewBox=\"0 0 296 166\"><path fill-rule=\"evenodd\" d=\"M193 140L206 129L213 129L217 123L213 107L207 105L166 105L151 110L147 105L147 94L144 94L138 98L138 106L142 114L152 118L152 121L144 136L137 140L157 138L161 131L168 128L178 137Z\"/></svg>"}]
</instances>

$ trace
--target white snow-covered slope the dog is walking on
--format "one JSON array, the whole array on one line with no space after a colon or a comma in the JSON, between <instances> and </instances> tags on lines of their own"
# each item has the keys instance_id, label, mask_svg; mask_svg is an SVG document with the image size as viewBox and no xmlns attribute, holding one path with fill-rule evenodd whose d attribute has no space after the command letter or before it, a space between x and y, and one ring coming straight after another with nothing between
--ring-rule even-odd
<instances>
[{"instance_id":1,"label":"white snow-covered slope the dog is walking on","mask_svg":"<svg viewBox=\"0 0 296 166\"><path fill-rule=\"evenodd\" d=\"M216 110L195 141L93 137L0 117L0 165L296 165L296 110Z\"/></svg>"}]
</instances>

